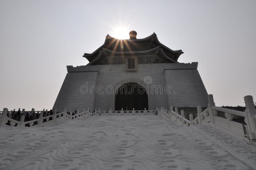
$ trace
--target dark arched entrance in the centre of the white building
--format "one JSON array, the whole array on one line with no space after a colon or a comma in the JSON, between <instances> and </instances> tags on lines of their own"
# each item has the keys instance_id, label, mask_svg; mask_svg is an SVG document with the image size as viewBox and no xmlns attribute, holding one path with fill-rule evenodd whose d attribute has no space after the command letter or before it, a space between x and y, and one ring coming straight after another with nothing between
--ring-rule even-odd
<instances>
[{"instance_id":1,"label":"dark arched entrance in the centre of the white building","mask_svg":"<svg viewBox=\"0 0 256 170\"><path fill-rule=\"evenodd\" d=\"M144 89L144 90L143 90ZM115 110L148 110L148 95L140 84L129 82L123 84L116 94Z\"/></svg>"}]
</instances>

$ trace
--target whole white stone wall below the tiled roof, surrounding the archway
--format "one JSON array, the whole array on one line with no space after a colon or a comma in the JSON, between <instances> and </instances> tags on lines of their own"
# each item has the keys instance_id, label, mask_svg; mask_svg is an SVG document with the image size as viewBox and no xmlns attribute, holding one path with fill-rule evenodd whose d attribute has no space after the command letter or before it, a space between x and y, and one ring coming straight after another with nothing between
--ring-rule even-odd
<instances>
[{"instance_id":1,"label":"whole white stone wall below the tiled roof, surrounding the archway","mask_svg":"<svg viewBox=\"0 0 256 170\"><path fill-rule=\"evenodd\" d=\"M68 74L60 89L60 93L54 104L54 108L62 111L64 107L82 110L88 107L101 110L115 109L115 94L106 93L105 88L112 86L116 90L117 85L126 82L137 82L151 91L152 85L163 87L163 93L148 94L149 110L163 106L196 107L207 106L207 92L201 77L197 71L197 63L159 63L138 64L137 71L125 71L125 65L92 65L92 66L67 66ZM152 81L147 84L145 77ZM88 82L88 86L94 85L93 93L80 93L80 87ZM101 85L103 94L95 92L96 86ZM171 94L164 92L166 85L172 86Z\"/></svg>"}]
</instances>

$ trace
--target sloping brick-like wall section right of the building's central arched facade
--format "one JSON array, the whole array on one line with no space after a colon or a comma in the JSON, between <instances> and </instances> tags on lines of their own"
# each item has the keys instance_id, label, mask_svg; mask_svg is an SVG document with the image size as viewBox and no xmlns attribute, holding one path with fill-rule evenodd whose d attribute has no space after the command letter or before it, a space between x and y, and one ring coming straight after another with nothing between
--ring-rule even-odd
<instances>
[{"instance_id":1,"label":"sloping brick-like wall section right of the building's central arched facade","mask_svg":"<svg viewBox=\"0 0 256 170\"><path fill-rule=\"evenodd\" d=\"M197 71L197 63L165 65L166 83L176 94L168 95L168 105L174 107L207 107L204 83Z\"/></svg>"}]
</instances>

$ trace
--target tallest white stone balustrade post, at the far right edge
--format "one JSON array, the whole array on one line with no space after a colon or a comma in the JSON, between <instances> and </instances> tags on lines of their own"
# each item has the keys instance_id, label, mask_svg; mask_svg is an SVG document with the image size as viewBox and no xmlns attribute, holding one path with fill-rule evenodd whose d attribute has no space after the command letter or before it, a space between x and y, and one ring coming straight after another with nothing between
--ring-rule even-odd
<instances>
[{"instance_id":1,"label":"tallest white stone balustrade post, at the far right edge","mask_svg":"<svg viewBox=\"0 0 256 170\"><path fill-rule=\"evenodd\" d=\"M245 107L246 107L244 121L247 124L248 135L249 135L250 139L255 140L256 109L255 109L255 105L254 105L252 96L245 96L244 103L245 103Z\"/></svg>"}]
</instances>

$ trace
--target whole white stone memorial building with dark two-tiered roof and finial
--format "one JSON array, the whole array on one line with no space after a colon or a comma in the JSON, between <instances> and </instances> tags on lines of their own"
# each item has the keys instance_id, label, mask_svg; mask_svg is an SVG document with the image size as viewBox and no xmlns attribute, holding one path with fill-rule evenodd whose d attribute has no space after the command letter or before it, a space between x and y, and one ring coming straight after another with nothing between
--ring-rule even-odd
<instances>
[{"instance_id":1,"label":"whole white stone memorial building with dark two-tiered roof and finial","mask_svg":"<svg viewBox=\"0 0 256 170\"><path fill-rule=\"evenodd\" d=\"M136 35L131 31L128 40L107 35L100 48L84 54L89 61L86 66L67 66L68 73L53 108L73 111L207 107L198 63L179 63L182 50L164 46L155 33L143 39L136 39ZM118 88L122 85L131 94Z\"/></svg>"}]
</instances>

